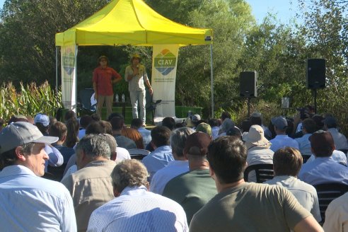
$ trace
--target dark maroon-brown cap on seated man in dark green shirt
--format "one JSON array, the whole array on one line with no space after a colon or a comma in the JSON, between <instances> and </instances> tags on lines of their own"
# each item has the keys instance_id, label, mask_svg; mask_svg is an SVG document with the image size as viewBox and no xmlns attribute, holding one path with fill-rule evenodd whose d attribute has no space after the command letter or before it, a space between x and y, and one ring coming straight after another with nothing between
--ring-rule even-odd
<instances>
[{"instance_id":1,"label":"dark maroon-brown cap on seated man in dark green shirt","mask_svg":"<svg viewBox=\"0 0 348 232\"><path fill-rule=\"evenodd\" d=\"M205 156L208 152L208 146L211 138L203 132L195 132L190 134L186 139L184 153L190 155Z\"/></svg>"}]
</instances>

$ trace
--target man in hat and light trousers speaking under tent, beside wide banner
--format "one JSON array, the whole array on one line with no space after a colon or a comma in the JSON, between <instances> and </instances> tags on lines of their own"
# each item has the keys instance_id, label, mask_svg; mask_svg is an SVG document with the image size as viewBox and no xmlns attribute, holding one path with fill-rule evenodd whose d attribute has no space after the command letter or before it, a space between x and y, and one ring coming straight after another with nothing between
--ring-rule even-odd
<instances>
[{"instance_id":1,"label":"man in hat and light trousers speaking under tent, beside wide banner","mask_svg":"<svg viewBox=\"0 0 348 232\"><path fill-rule=\"evenodd\" d=\"M129 83L129 96L132 104L133 118L138 118L138 104L140 108L140 119L146 124L146 91L144 83L149 87L149 93L152 95L150 81L146 74L145 66L140 63L139 54L134 54L131 59L131 65L126 67L124 79Z\"/></svg>"}]
</instances>

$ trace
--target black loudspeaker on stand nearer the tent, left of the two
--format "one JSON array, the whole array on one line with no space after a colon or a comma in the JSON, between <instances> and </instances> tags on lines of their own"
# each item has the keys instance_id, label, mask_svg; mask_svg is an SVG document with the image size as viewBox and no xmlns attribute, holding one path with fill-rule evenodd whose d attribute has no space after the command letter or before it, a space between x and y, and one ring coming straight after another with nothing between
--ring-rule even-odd
<instances>
[{"instance_id":1,"label":"black loudspeaker on stand nearer the tent, left of the two","mask_svg":"<svg viewBox=\"0 0 348 232\"><path fill-rule=\"evenodd\" d=\"M257 71L242 71L239 75L240 97L257 97Z\"/></svg>"}]
</instances>

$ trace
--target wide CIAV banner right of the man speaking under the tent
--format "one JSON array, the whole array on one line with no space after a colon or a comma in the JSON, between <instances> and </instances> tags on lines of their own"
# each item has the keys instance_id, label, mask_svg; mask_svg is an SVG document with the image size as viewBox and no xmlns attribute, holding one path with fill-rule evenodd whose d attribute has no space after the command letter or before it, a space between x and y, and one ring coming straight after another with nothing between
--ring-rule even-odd
<instances>
[{"instance_id":1,"label":"wide CIAV banner right of the man speaking under the tent","mask_svg":"<svg viewBox=\"0 0 348 232\"><path fill-rule=\"evenodd\" d=\"M153 101L156 106L155 122L163 117L175 117L175 79L179 45L153 45L152 78ZM156 120L158 118L158 120Z\"/></svg>"}]
</instances>

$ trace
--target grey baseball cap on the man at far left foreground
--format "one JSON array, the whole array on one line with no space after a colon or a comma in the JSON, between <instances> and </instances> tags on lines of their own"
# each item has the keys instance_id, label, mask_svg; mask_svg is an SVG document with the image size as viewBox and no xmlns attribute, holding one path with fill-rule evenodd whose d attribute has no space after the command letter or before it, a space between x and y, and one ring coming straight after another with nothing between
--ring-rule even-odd
<instances>
[{"instance_id":1,"label":"grey baseball cap on the man at far left foreground","mask_svg":"<svg viewBox=\"0 0 348 232\"><path fill-rule=\"evenodd\" d=\"M0 153L24 144L52 144L56 141L58 137L43 136L40 130L29 122L13 122L0 132Z\"/></svg>"}]
</instances>

